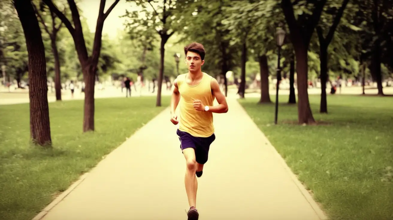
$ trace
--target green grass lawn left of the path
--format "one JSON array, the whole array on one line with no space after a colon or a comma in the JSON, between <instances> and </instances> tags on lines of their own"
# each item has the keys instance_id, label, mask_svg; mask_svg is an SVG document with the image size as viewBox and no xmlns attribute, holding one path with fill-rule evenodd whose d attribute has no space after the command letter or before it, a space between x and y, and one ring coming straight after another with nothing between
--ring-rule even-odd
<instances>
[{"instance_id":1,"label":"green grass lawn left of the path","mask_svg":"<svg viewBox=\"0 0 393 220\"><path fill-rule=\"evenodd\" d=\"M95 132L82 133L83 100L50 103L53 149L29 144L29 104L0 105L0 219L29 220L169 105L169 96L95 100Z\"/></svg>"}]
</instances>

